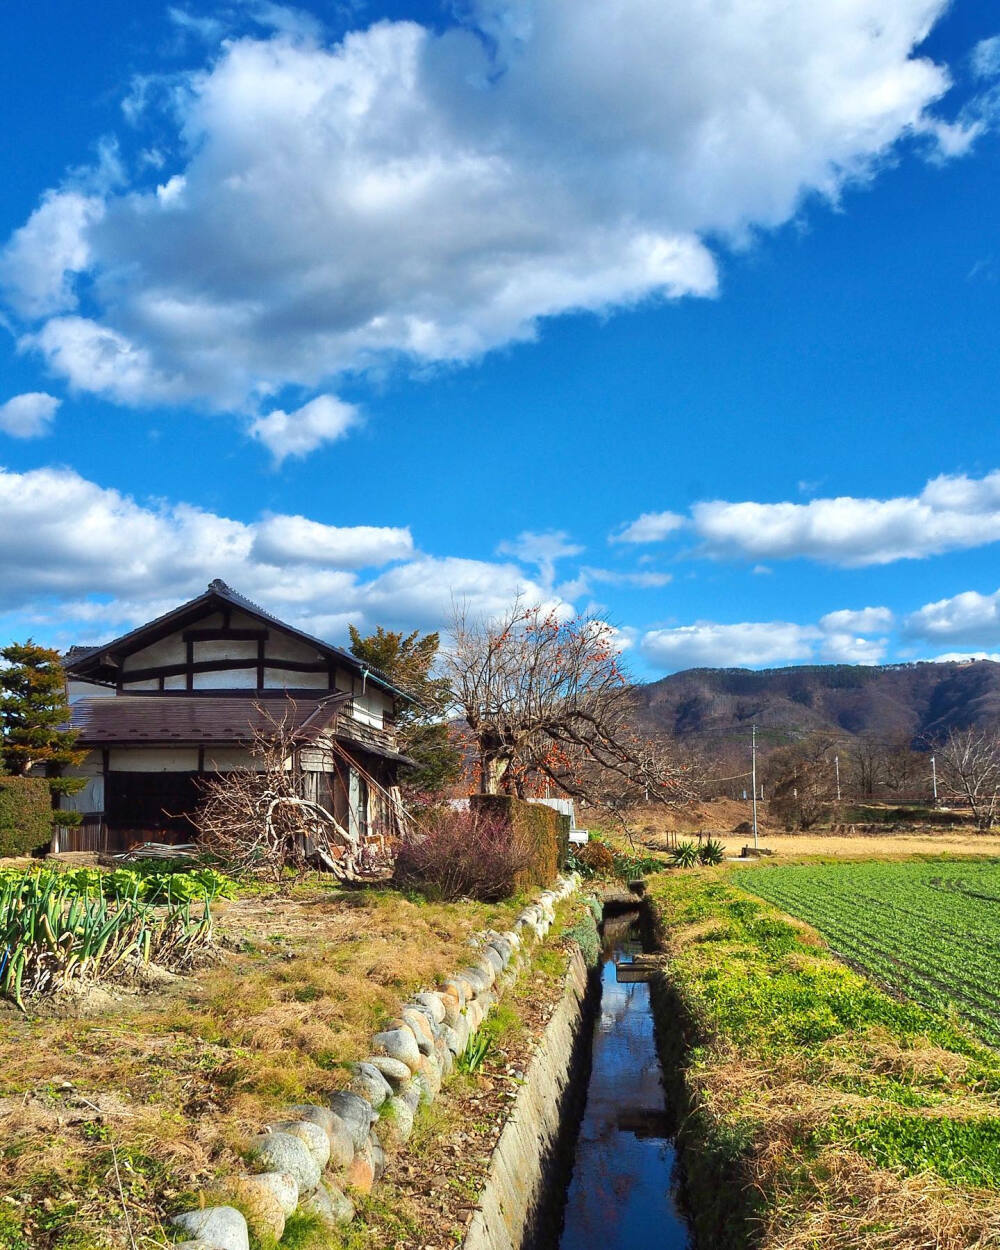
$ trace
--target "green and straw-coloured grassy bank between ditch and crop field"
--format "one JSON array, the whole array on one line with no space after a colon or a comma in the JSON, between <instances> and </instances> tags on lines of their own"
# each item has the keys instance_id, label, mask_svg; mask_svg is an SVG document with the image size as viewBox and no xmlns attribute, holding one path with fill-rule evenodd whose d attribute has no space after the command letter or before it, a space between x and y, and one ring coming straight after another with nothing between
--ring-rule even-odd
<instances>
[{"instance_id":1,"label":"green and straw-coloured grassy bank between ditch and crop field","mask_svg":"<svg viewBox=\"0 0 1000 1250\"><path fill-rule=\"evenodd\" d=\"M664 874L650 898L702 1242L996 1245L1000 1056L841 964L725 870Z\"/></svg>"}]
</instances>

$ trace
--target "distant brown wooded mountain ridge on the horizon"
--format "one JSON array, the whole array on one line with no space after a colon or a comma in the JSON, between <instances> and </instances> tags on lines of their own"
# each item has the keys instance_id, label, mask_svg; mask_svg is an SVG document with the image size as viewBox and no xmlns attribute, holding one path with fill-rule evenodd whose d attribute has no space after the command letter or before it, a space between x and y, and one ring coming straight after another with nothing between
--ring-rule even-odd
<instances>
[{"instance_id":1,"label":"distant brown wooded mountain ridge on the horizon","mask_svg":"<svg viewBox=\"0 0 1000 1250\"><path fill-rule=\"evenodd\" d=\"M1000 664L830 664L688 669L636 688L646 730L721 742L756 722L765 741L814 731L916 740L1000 724Z\"/></svg>"}]
</instances>

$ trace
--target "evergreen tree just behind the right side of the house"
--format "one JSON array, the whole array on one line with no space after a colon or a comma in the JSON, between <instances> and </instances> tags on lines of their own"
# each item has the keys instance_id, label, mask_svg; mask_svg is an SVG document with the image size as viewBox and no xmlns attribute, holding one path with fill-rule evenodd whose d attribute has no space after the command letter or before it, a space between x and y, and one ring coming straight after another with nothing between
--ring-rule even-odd
<instances>
[{"instance_id":1,"label":"evergreen tree just behind the right side of the house","mask_svg":"<svg viewBox=\"0 0 1000 1250\"><path fill-rule=\"evenodd\" d=\"M402 751L416 760L416 766L404 775L406 789L436 794L458 781L462 754L445 720L451 688L446 678L432 675L440 635L421 638L418 630L404 635L381 625L368 638L361 638L354 625L350 634L354 656L419 700L416 706L404 708L396 722Z\"/></svg>"}]
</instances>

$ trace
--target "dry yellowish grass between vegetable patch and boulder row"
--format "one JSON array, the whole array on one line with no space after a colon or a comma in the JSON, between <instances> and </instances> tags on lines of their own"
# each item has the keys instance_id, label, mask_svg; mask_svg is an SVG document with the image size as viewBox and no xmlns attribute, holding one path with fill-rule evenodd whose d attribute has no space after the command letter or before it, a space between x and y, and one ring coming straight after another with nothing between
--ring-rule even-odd
<instances>
[{"instance_id":1,"label":"dry yellowish grass between vegetable patch and boulder row","mask_svg":"<svg viewBox=\"0 0 1000 1250\"><path fill-rule=\"evenodd\" d=\"M222 959L152 994L0 1006L0 1250L128 1246L115 1160L139 1244L162 1244L186 1190L284 1102L345 1084L379 1024L514 911L311 884L234 902Z\"/></svg>"}]
</instances>

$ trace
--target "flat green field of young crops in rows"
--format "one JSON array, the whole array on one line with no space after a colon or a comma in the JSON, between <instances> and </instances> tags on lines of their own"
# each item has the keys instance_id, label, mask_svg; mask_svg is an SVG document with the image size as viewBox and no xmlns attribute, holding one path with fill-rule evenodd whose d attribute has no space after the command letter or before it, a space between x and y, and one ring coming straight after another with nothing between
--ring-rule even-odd
<instances>
[{"instance_id":1,"label":"flat green field of young crops in rows","mask_svg":"<svg viewBox=\"0 0 1000 1250\"><path fill-rule=\"evenodd\" d=\"M1000 861L785 865L735 878L888 989L954 1006L1000 1045Z\"/></svg>"}]
</instances>

